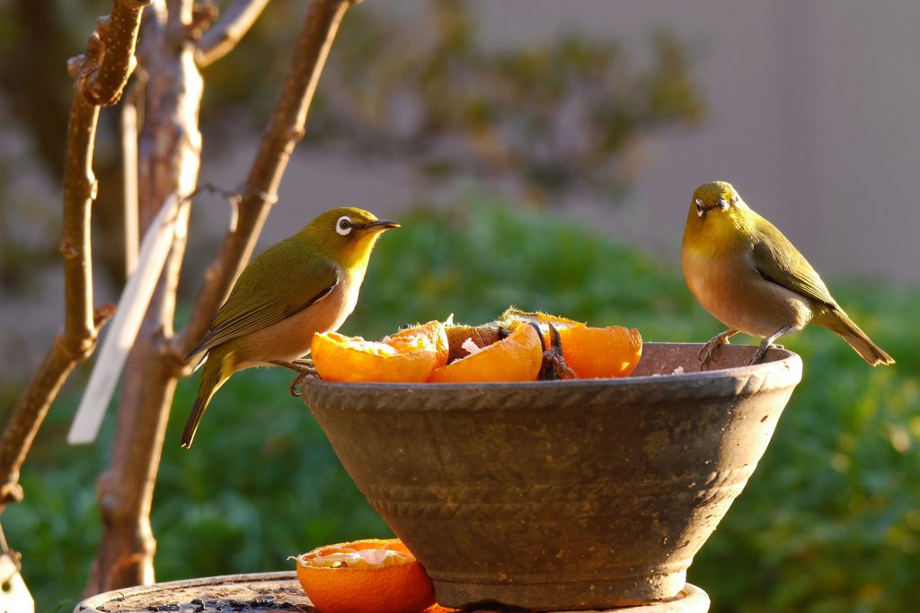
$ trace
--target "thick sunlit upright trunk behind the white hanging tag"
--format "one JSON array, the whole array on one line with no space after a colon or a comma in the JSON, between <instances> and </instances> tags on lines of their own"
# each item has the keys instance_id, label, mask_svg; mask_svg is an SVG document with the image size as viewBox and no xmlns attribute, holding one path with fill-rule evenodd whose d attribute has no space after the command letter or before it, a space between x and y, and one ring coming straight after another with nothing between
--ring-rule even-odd
<instances>
[{"instance_id":1,"label":"thick sunlit upright trunk behind the white hanging tag","mask_svg":"<svg viewBox=\"0 0 920 613\"><path fill-rule=\"evenodd\" d=\"M192 57L191 8L191 0L157 3L144 21L140 55L147 82L138 143L138 206L144 229L172 194L190 194L198 180L202 82ZM173 334L189 210L190 203L183 201L167 263L121 380L112 456L98 480L102 541L86 594L154 581L150 508L181 366L163 348Z\"/></svg>"}]
</instances>

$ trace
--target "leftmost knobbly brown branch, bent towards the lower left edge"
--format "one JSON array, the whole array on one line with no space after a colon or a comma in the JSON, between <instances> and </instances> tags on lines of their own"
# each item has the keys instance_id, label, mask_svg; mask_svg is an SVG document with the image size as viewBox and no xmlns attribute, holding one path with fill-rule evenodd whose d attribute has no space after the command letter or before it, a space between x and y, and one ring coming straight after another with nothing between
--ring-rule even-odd
<instances>
[{"instance_id":1,"label":"leftmost knobbly brown branch, bent towards the lower left edge","mask_svg":"<svg viewBox=\"0 0 920 613\"><path fill-rule=\"evenodd\" d=\"M90 35L86 54L68 62L74 77L74 96L63 170L63 334L55 339L40 369L29 381L0 437L0 505L21 500L19 469L32 441L63 382L77 362L92 354L98 329L111 316L111 307L93 310L89 234L97 193L93 149L99 105L113 104L121 96L133 68L141 11L150 1L114 0L111 17L99 19L97 31Z\"/></svg>"}]
</instances>

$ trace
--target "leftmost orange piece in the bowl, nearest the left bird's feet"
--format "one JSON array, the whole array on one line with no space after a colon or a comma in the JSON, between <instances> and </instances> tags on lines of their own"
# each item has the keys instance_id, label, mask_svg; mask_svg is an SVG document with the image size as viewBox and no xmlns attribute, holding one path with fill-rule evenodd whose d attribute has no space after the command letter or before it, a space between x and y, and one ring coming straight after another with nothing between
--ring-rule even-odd
<instances>
[{"instance_id":1,"label":"leftmost orange piece in the bowl, nearest the left bird's feet","mask_svg":"<svg viewBox=\"0 0 920 613\"><path fill-rule=\"evenodd\" d=\"M388 344L327 332L313 335L310 353L320 377L348 382L420 383L439 359L438 347L426 335L407 335Z\"/></svg>"}]
</instances>

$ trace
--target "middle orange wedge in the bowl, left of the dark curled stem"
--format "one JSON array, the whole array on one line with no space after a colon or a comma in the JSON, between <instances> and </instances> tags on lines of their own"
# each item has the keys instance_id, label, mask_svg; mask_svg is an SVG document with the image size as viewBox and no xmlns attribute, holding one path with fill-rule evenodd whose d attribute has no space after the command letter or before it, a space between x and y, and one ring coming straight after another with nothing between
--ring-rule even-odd
<instances>
[{"instance_id":1,"label":"middle orange wedge in the bowl, left of the dark curled stem","mask_svg":"<svg viewBox=\"0 0 920 613\"><path fill-rule=\"evenodd\" d=\"M489 346L478 347L471 339L464 345L474 352L432 370L430 382L533 381L543 362L540 336L527 324L518 324L511 335Z\"/></svg>"}]
</instances>

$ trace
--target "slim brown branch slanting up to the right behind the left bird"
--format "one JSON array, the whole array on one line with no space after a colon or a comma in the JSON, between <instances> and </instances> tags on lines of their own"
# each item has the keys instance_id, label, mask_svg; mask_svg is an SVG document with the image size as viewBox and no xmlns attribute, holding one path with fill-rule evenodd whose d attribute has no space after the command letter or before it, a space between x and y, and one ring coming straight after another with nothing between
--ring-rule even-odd
<instances>
[{"instance_id":1,"label":"slim brown branch slanting up to the right behind the left bird","mask_svg":"<svg viewBox=\"0 0 920 613\"><path fill-rule=\"evenodd\" d=\"M352 4L350 0L315 0L307 11L281 98L238 203L236 225L226 234L220 254L205 272L189 324L176 345L178 356L185 356L207 331L214 312L252 255L270 206L278 198L278 186L293 148L304 138L307 111L339 23Z\"/></svg>"}]
</instances>

